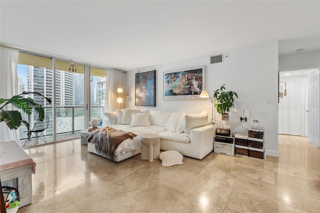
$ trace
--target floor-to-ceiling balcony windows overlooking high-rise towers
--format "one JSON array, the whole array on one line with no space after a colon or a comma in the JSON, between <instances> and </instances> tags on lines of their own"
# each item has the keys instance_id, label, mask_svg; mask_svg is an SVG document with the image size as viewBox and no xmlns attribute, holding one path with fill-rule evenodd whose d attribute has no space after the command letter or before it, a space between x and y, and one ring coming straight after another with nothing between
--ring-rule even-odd
<instances>
[{"instance_id":1,"label":"floor-to-ceiling balcony windows overlooking high-rise towers","mask_svg":"<svg viewBox=\"0 0 320 213\"><path fill-rule=\"evenodd\" d=\"M19 53L18 87L23 91L36 91L42 95L55 98L54 104L49 104L41 96L29 94L36 103L44 107L45 115L49 117L48 128L44 135L48 141L60 140L63 135L78 136L79 131L86 128L85 106L90 107L90 118L102 122L106 88L106 68L91 66L88 81L85 77L85 65L74 63L76 71L69 70L70 61L55 59L55 71L52 71L52 58ZM85 82L90 82L85 86ZM85 92L85 89L88 92ZM86 100L85 94L89 93ZM54 94L54 95L53 95ZM54 111L55 110L55 111ZM55 112L55 113L54 113ZM55 114L55 119L54 119ZM32 127L37 119L36 114L27 116L21 113ZM55 124L53 124L55 121ZM53 135L55 132L55 135ZM20 140L27 137L26 127L20 126Z\"/></svg>"}]
</instances>

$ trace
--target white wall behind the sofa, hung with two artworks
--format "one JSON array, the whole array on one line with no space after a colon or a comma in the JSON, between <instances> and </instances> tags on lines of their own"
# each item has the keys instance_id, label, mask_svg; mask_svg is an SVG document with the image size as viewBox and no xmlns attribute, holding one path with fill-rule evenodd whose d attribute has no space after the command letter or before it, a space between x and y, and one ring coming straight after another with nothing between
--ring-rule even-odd
<instances>
[{"instance_id":1,"label":"white wall behind the sofa, hung with two artworks","mask_svg":"<svg viewBox=\"0 0 320 213\"><path fill-rule=\"evenodd\" d=\"M189 58L164 64L153 65L128 71L125 76L125 91L131 96L126 99L125 107L134 106L134 77L135 72L156 70L156 106L148 107L155 110L184 111L199 113L207 110L211 118L211 102L206 100L176 100L164 101L163 72L182 68L205 65L205 87L209 94L226 84L227 90L238 93L235 108L250 109L250 118L259 120L265 126L265 151L267 155L278 156L278 41L245 47L224 52L223 63L210 64L210 55ZM267 99L271 103L267 104ZM146 108L146 107L139 107ZM230 112L230 119L235 118L236 112ZM219 120L220 116L216 115Z\"/></svg>"}]
</instances>

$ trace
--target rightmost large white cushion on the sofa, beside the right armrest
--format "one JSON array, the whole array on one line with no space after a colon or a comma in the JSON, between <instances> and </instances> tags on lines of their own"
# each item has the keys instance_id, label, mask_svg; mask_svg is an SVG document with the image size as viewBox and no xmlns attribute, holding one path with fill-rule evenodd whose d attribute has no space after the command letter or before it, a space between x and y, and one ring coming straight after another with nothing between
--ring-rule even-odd
<instances>
[{"instance_id":1,"label":"rightmost large white cushion on the sofa, beside the right armrest","mask_svg":"<svg viewBox=\"0 0 320 213\"><path fill-rule=\"evenodd\" d=\"M199 114L187 114L184 116L184 132L187 136L190 136L192 128L206 125L208 121L208 112L202 111Z\"/></svg>"}]
</instances>

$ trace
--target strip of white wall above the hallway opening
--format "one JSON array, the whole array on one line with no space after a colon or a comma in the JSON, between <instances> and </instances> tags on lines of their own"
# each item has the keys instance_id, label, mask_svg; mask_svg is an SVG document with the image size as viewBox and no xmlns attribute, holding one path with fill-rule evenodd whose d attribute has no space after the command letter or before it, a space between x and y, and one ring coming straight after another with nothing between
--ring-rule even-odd
<instances>
[{"instance_id":1,"label":"strip of white wall above the hallway opening","mask_svg":"<svg viewBox=\"0 0 320 213\"><path fill-rule=\"evenodd\" d=\"M279 71L320 67L320 50L279 55Z\"/></svg>"}]
</instances>

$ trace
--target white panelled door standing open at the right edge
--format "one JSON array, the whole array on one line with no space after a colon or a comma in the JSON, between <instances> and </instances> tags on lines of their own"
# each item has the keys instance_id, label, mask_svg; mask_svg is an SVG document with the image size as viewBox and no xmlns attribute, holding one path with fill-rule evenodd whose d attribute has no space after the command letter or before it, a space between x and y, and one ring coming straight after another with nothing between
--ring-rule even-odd
<instances>
[{"instance_id":1,"label":"white panelled door standing open at the right edge","mask_svg":"<svg viewBox=\"0 0 320 213\"><path fill-rule=\"evenodd\" d=\"M319 141L319 70L308 74L308 141L320 146Z\"/></svg>"}]
</instances>

